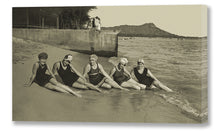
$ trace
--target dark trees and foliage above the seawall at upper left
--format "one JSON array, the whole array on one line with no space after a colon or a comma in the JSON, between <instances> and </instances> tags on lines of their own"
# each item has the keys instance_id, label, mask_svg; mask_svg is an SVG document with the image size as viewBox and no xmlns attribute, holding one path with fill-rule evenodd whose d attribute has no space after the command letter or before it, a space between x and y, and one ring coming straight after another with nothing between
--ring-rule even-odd
<instances>
[{"instance_id":1,"label":"dark trees and foliage above the seawall at upper left","mask_svg":"<svg viewBox=\"0 0 220 131\"><path fill-rule=\"evenodd\" d=\"M16 7L13 27L83 29L92 9L96 7Z\"/></svg>"}]
</instances>

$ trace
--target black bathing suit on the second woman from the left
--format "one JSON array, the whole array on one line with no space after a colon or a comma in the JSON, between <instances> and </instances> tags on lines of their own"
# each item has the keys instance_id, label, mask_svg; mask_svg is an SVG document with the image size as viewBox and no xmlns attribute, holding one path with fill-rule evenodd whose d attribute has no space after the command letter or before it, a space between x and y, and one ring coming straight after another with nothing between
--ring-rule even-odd
<instances>
[{"instance_id":1,"label":"black bathing suit on the second woman from the left","mask_svg":"<svg viewBox=\"0 0 220 131\"><path fill-rule=\"evenodd\" d=\"M61 65L61 62L60 68L57 72L61 77L63 83L70 87L72 87L73 83L79 79L79 76L75 72L72 72L70 65L67 65L66 70L64 70L63 66Z\"/></svg>"}]
</instances>

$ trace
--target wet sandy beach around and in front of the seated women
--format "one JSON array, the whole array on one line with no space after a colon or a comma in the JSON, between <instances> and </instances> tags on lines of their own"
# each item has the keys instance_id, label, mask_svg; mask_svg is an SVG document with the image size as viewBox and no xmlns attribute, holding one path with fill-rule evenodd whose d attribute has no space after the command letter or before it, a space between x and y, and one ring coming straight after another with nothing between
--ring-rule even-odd
<instances>
[{"instance_id":1,"label":"wet sandy beach around and in front of the seated women","mask_svg":"<svg viewBox=\"0 0 220 131\"><path fill-rule=\"evenodd\" d=\"M18 48L21 46L24 48ZM107 94L100 94L80 90L83 97L77 98L47 90L35 83L26 88L23 85L29 80L38 53L48 53L47 63L51 68L54 62L70 53L74 56L72 64L80 72L88 62L88 55L17 38L13 38L13 51L16 51L13 54L13 121L199 123L154 95L153 91L111 89ZM112 68L108 58L100 57L99 62L107 72Z\"/></svg>"}]
</instances>

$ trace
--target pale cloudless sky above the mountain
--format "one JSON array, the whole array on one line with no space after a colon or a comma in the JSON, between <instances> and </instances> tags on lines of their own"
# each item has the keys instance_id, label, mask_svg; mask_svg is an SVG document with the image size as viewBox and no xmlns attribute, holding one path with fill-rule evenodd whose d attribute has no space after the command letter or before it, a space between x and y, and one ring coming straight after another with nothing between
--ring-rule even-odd
<instances>
[{"instance_id":1,"label":"pale cloudless sky above the mountain","mask_svg":"<svg viewBox=\"0 0 220 131\"><path fill-rule=\"evenodd\" d=\"M207 36L207 7L97 6L89 15L99 16L103 27L154 23L160 29L182 36Z\"/></svg>"}]
</instances>

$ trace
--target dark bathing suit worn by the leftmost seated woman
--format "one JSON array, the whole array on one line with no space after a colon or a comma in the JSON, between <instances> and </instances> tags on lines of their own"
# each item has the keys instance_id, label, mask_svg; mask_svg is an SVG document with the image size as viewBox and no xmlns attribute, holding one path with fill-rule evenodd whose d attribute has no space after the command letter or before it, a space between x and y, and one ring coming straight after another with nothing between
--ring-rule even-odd
<instances>
[{"instance_id":1,"label":"dark bathing suit worn by the leftmost seated woman","mask_svg":"<svg viewBox=\"0 0 220 131\"><path fill-rule=\"evenodd\" d=\"M53 78L51 75L46 74L47 65L45 64L43 67L39 64L39 68L37 69L36 77L34 82L36 82L40 86L45 86L49 83L50 79Z\"/></svg>"}]
</instances>

